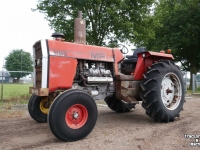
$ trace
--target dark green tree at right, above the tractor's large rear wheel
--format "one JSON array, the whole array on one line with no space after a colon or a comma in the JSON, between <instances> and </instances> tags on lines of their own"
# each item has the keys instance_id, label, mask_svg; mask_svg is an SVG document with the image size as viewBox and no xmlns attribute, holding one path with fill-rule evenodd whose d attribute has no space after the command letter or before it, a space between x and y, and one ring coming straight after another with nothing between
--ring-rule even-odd
<instances>
[{"instance_id":1,"label":"dark green tree at right, above the tractor's large rear wheel","mask_svg":"<svg viewBox=\"0 0 200 150\"><path fill-rule=\"evenodd\" d=\"M153 32L142 43L156 51L171 48L183 69L196 74L200 70L200 1L160 0L146 20ZM149 34L152 30L146 31Z\"/></svg>"}]
</instances>

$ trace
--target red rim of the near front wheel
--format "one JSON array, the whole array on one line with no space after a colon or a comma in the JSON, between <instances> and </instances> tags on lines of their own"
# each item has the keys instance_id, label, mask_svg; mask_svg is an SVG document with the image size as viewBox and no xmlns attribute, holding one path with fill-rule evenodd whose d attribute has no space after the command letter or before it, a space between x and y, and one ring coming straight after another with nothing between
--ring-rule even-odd
<instances>
[{"instance_id":1,"label":"red rim of the near front wheel","mask_svg":"<svg viewBox=\"0 0 200 150\"><path fill-rule=\"evenodd\" d=\"M88 111L85 106L75 104L71 106L65 115L66 124L72 129L78 129L84 126L88 119Z\"/></svg>"}]
</instances>

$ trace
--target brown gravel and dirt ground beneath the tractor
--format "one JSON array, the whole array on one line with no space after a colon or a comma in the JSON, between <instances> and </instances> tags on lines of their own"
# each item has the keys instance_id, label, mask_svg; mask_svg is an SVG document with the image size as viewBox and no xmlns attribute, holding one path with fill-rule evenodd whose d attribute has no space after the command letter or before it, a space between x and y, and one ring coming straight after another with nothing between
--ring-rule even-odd
<instances>
[{"instance_id":1,"label":"brown gravel and dirt ground beneath the tractor","mask_svg":"<svg viewBox=\"0 0 200 150\"><path fill-rule=\"evenodd\" d=\"M101 103L101 102L100 102ZM51 133L48 124L35 122L27 110L0 110L0 149L51 150L185 150L199 149L185 134L200 135L200 98L187 98L181 116L171 123L151 120L141 105L119 114L98 105L93 131L83 140L63 142Z\"/></svg>"}]
</instances>

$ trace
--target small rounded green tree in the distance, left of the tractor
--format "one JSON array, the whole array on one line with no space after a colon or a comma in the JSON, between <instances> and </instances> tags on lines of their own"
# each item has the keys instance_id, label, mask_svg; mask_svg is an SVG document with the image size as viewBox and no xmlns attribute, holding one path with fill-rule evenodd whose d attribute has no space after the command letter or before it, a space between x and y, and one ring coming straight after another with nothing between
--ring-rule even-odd
<instances>
[{"instance_id":1,"label":"small rounded green tree in the distance, left of the tractor","mask_svg":"<svg viewBox=\"0 0 200 150\"><path fill-rule=\"evenodd\" d=\"M18 71L10 72L10 77L13 78L13 82L19 82L21 77L24 77L33 71L33 61L31 54L25 52L22 49L12 50L10 54L5 58L6 60L6 70L8 71Z\"/></svg>"}]
</instances>

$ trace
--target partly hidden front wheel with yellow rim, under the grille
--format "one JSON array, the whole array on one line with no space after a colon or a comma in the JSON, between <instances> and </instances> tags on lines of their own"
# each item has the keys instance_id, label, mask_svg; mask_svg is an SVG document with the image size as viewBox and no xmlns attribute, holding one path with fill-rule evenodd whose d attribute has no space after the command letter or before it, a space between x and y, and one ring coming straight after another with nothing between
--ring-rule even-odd
<instances>
[{"instance_id":1,"label":"partly hidden front wheel with yellow rim, under the grille","mask_svg":"<svg viewBox=\"0 0 200 150\"><path fill-rule=\"evenodd\" d=\"M47 122L47 114L50 103L46 96L32 95L28 102L28 111L30 116L37 122Z\"/></svg>"}]
</instances>

